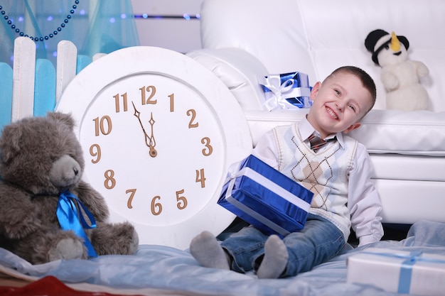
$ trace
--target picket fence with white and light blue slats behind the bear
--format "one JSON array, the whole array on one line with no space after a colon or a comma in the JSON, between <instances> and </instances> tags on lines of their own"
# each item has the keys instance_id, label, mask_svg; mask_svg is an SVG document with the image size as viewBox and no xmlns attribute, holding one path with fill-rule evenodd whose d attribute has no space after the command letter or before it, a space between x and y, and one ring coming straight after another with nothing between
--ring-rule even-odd
<instances>
[{"instance_id":1,"label":"picket fence with white and light blue slats behind the bear","mask_svg":"<svg viewBox=\"0 0 445 296\"><path fill-rule=\"evenodd\" d=\"M44 116L53 111L75 75L103 55L77 55L77 48L68 40L61 40L57 51L55 69L49 60L36 60L33 40L14 40L13 68L0 62L0 133L3 126L25 116Z\"/></svg>"}]
</instances>

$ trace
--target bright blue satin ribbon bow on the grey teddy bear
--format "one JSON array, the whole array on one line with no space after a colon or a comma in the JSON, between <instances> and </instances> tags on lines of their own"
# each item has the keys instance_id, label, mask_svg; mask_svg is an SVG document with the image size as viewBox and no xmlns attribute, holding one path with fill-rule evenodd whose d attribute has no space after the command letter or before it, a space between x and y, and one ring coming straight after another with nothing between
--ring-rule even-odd
<instances>
[{"instance_id":1,"label":"bright blue satin ribbon bow on the grey teddy bear","mask_svg":"<svg viewBox=\"0 0 445 296\"><path fill-rule=\"evenodd\" d=\"M80 214L77 212L79 210ZM85 207L82 202L71 192L65 191L60 193L59 202L57 207L57 218L59 220L60 227L63 230L72 230L74 233L83 239L83 243L87 247L89 257L97 257L95 248L93 248L90 239L85 234L85 229L93 229L96 227L95 217ZM90 224L85 221L83 214L86 214ZM80 219L79 219L80 217Z\"/></svg>"}]
</instances>

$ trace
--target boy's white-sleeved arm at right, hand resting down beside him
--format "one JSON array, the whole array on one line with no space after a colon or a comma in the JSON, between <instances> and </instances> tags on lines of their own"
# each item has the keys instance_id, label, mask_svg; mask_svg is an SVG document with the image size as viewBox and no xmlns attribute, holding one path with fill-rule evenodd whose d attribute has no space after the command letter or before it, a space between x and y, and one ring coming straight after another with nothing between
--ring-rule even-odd
<instances>
[{"instance_id":1,"label":"boy's white-sleeved arm at right, hand resting down beside him","mask_svg":"<svg viewBox=\"0 0 445 296\"><path fill-rule=\"evenodd\" d=\"M350 221L359 239L359 246L380 241L383 236L380 222L382 204L377 190L370 181L371 172L372 164L368 152L365 146L359 143L348 183Z\"/></svg>"}]
</instances>

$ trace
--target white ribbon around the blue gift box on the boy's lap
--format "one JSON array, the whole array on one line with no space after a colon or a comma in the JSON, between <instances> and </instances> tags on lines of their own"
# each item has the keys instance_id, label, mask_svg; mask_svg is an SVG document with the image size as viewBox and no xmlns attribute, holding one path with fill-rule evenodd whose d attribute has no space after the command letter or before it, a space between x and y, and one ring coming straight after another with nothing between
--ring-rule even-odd
<instances>
[{"instance_id":1,"label":"white ribbon around the blue gift box on the boy's lap","mask_svg":"<svg viewBox=\"0 0 445 296\"><path fill-rule=\"evenodd\" d=\"M303 199L300 199L296 195L292 194L291 192L285 190L283 187L277 185L276 183L272 182L271 180L267 179L267 177L264 177L263 175L259 174L259 172L256 172L252 170L251 168L245 167L241 170L238 170L237 172L233 173L234 168L239 168L239 164L231 165L229 168L229 176L225 180L225 183L229 182L227 192L225 194L225 199L227 202L230 202L230 204L233 204L238 209L242 210L246 214L252 216L254 219L257 219L257 221L261 222L264 225L269 226L269 228L273 229L274 231L277 231L279 234L282 234L286 236L289 234L289 231L282 228L282 226L279 226L274 221L271 221L267 219L266 217L262 216L261 214L258 214L253 209L250 209L250 207L245 206L245 204L242 204L241 202L238 202L237 199L232 197L232 189L235 185L235 181L237 177L248 177L251 180L254 180L254 182L257 182L258 184L262 185L263 187L266 187L268 190L278 194L282 198L286 199L288 202L291 202L292 204L295 204L300 209L304 210L305 212L308 212L311 208L311 204L308 202L305 202Z\"/></svg>"}]
</instances>

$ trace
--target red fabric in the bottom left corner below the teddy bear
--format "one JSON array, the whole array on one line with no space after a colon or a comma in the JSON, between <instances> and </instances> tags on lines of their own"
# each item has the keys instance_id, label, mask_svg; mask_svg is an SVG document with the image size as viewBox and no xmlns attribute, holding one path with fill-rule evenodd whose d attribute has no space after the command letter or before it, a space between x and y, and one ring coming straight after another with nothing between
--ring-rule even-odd
<instances>
[{"instance_id":1,"label":"red fabric in the bottom left corner below the teddy bear","mask_svg":"<svg viewBox=\"0 0 445 296\"><path fill-rule=\"evenodd\" d=\"M76 291L60 282L53 276L46 276L36 282L29 283L23 287L0 287L0 295L2 296L108 296L117 294L109 294L105 292L84 292Z\"/></svg>"}]
</instances>

